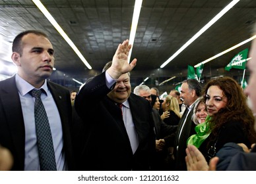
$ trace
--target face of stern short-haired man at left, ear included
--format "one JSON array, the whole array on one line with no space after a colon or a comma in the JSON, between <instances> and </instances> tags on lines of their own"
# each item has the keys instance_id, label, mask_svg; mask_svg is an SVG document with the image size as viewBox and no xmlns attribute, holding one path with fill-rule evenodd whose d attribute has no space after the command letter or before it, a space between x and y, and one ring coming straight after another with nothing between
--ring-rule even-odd
<instances>
[{"instance_id":1,"label":"face of stern short-haired man at left, ear included","mask_svg":"<svg viewBox=\"0 0 256 184\"><path fill-rule=\"evenodd\" d=\"M22 37L22 55L13 53L18 66L18 74L24 80L45 80L53 71L53 47L49 39L42 35L27 34Z\"/></svg>"}]
</instances>

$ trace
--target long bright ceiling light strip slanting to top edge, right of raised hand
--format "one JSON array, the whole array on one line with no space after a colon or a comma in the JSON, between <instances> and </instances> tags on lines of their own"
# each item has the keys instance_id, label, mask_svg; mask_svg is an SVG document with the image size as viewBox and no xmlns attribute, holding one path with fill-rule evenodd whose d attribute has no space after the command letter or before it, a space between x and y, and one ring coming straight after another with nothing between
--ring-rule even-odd
<instances>
[{"instance_id":1,"label":"long bright ceiling light strip slanting to top edge, right of raised hand","mask_svg":"<svg viewBox=\"0 0 256 184\"><path fill-rule=\"evenodd\" d=\"M240 0L234 0L232 1L230 4L228 4L224 9L222 9L222 11L220 11L216 16L214 16L214 18L212 18L212 20L210 20L210 22L208 22L199 32L197 32L197 34L195 34L193 37L191 37L191 39L189 39L189 41L187 41L187 43L185 43L179 50L176 51L176 53L174 53L174 55L172 55L172 57L168 58L168 60L166 60L166 62L164 62L160 68L164 68L164 66L166 66L169 62L171 62L175 57L177 57L177 55L179 55L179 53L181 53L185 48L187 48L193 41L195 41L195 39L197 39L197 37L199 37L201 34L203 34L206 30L208 30L208 28L210 28L210 26L212 26L212 24L214 24L218 19L220 19L226 12L228 12L232 7L234 7L234 5L236 5L236 3L238 3Z\"/></svg>"}]
</instances>

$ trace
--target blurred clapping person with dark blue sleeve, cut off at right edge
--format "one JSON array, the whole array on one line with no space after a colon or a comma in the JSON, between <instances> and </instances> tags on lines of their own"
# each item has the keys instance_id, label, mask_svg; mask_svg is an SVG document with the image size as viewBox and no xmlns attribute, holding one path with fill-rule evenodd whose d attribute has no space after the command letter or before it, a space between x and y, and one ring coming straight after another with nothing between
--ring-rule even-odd
<instances>
[{"instance_id":1,"label":"blurred clapping person with dark blue sleeve, cut off at right edge","mask_svg":"<svg viewBox=\"0 0 256 184\"><path fill-rule=\"evenodd\" d=\"M256 114L256 41L253 40L249 57L251 60L247 62L247 68L251 75L249 77L248 86L245 89L245 94L251 99L251 109L255 116ZM241 114L243 117L244 114ZM254 122L254 129L256 131L256 123ZM250 130L251 131L251 130ZM249 132L248 132L249 133ZM234 135L233 135L234 136ZM237 170L237 171L255 171L256 170L256 149L255 144L249 150L245 144L226 143L220 149L214 158L207 164L205 156L194 145L188 145L187 156L185 157L187 170L196 171L214 171L214 170Z\"/></svg>"}]
</instances>

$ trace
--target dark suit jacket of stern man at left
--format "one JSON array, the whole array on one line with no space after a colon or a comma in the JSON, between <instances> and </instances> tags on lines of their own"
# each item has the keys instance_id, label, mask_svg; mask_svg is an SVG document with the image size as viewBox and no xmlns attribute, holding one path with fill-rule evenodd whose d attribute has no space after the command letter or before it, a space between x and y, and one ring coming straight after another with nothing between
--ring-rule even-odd
<instances>
[{"instance_id":1,"label":"dark suit jacket of stern man at left","mask_svg":"<svg viewBox=\"0 0 256 184\"><path fill-rule=\"evenodd\" d=\"M69 90L48 81L48 87L59 110L63 129L63 151L69 170L74 170L69 126L72 109ZM12 170L24 170L25 128L15 76L0 81L0 144L11 150Z\"/></svg>"}]
</instances>

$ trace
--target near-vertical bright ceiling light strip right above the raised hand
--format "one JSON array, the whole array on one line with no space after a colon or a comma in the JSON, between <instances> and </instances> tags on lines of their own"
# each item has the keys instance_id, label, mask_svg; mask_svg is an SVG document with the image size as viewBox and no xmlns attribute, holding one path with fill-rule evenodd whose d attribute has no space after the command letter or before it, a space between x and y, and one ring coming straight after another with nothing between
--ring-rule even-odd
<instances>
[{"instance_id":1,"label":"near-vertical bright ceiling light strip right above the raised hand","mask_svg":"<svg viewBox=\"0 0 256 184\"><path fill-rule=\"evenodd\" d=\"M130 37L129 37L129 44L131 44L131 49L128 55L128 62L130 62L131 59L131 52L133 50L133 43L135 40L135 34L139 22L139 16L141 13L141 5L143 4L143 0L136 0L134 9L133 9L133 21L131 23L131 32L130 32Z\"/></svg>"}]
</instances>

